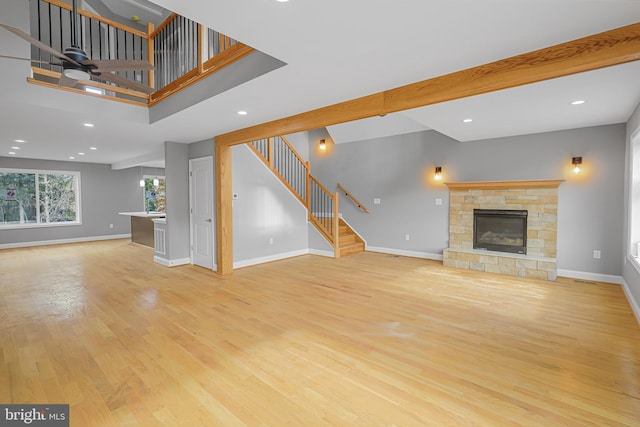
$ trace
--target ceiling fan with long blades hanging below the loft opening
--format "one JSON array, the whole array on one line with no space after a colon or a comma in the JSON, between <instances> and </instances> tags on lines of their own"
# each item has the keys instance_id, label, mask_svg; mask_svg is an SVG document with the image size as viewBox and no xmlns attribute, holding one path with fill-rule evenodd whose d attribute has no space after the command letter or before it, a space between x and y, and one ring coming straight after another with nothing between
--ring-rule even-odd
<instances>
[{"instance_id":1,"label":"ceiling fan with long blades hanging below the loft opening","mask_svg":"<svg viewBox=\"0 0 640 427\"><path fill-rule=\"evenodd\" d=\"M118 86L122 86L127 89L132 89L138 92L150 94L155 90L142 83L126 79L117 74L113 74L112 71L134 71L134 70L152 70L153 65L144 60L121 60L121 59L107 59L107 60L92 60L89 59L87 54L82 50L78 44L78 9L76 0L72 1L71 12L71 46L67 47L64 52L58 52L56 49L49 45L42 43L40 40L31 37L31 35L25 33L18 28L11 27L9 25L0 24L0 27L15 34L31 43L33 46L40 50L47 52L48 54L60 59L60 63L51 63L48 61L37 61L28 58L17 58L14 56L0 55L2 58L8 59L21 59L30 62L39 62L51 65L58 65L62 67L62 73L60 74L60 80L58 84L65 87L74 87L78 84L78 81L91 80L94 77L98 80L104 80L107 82L115 83Z\"/></svg>"}]
</instances>

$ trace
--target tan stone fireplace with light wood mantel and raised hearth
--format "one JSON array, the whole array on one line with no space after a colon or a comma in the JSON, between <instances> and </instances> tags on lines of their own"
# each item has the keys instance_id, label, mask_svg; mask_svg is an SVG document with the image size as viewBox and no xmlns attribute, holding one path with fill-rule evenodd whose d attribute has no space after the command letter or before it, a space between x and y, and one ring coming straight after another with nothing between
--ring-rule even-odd
<instances>
[{"instance_id":1,"label":"tan stone fireplace with light wood mantel and raised hearth","mask_svg":"<svg viewBox=\"0 0 640 427\"><path fill-rule=\"evenodd\" d=\"M444 265L556 280L558 186L561 183L560 180L447 183L450 191L449 248L444 250ZM508 215L507 230L481 229L480 240L489 244L481 242L479 245L474 210ZM518 216L524 216L526 224L522 242L513 236ZM486 226L485 221L481 223L483 226ZM520 249L505 251L500 244L509 241L514 242L514 248L520 245Z\"/></svg>"}]
</instances>

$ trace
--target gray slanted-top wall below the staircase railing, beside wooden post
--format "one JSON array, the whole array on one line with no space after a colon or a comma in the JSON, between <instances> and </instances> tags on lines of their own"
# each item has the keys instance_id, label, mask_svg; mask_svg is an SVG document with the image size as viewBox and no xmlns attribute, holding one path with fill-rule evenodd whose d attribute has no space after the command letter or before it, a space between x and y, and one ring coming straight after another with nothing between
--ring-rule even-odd
<instances>
[{"instance_id":1,"label":"gray slanted-top wall below the staircase railing, beside wooden post","mask_svg":"<svg viewBox=\"0 0 640 427\"><path fill-rule=\"evenodd\" d=\"M232 149L233 261L253 264L307 251L306 209L245 145ZM269 239L273 239L273 244Z\"/></svg>"}]
</instances>

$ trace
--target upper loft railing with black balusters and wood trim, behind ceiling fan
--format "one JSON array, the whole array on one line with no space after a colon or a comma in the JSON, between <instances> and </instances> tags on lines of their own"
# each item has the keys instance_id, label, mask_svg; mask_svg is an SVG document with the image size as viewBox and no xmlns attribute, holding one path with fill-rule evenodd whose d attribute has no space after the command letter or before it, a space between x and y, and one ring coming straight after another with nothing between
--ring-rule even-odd
<instances>
[{"instance_id":1,"label":"upper loft railing with black balusters and wood trim, behind ceiling fan","mask_svg":"<svg viewBox=\"0 0 640 427\"><path fill-rule=\"evenodd\" d=\"M60 0L37 0L31 4L31 35L62 52L71 46L72 7ZM142 59L155 66L152 71L119 71L121 77L151 86L156 92L145 95L115 85L92 82L111 99L153 105L177 91L212 74L253 49L215 30L205 28L177 14L170 15L147 31L127 27L78 9L79 42L89 58ZM60 61L33 47L32 69L38 84L57 86L62 67L47 62Z\"/></svg>"}]
</instances>

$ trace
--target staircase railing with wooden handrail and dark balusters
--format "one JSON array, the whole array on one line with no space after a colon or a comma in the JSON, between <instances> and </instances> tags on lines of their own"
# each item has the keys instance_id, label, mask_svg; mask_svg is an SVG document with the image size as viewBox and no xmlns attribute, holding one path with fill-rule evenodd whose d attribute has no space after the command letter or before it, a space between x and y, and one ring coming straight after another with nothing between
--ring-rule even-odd
<instances>
[{"instance_id":1,"label":"staircase railing with wooden handrail and dark balusters","mask_svg":"<svg viewBox=\"0 0 640 427\"><path fill-rule=\"evenodd\" d=\"M339 254L338 193L332 194L311 176L309 162L282 136L247 144L307 208L309 221Z\"/></svg>"}]
</instances>

